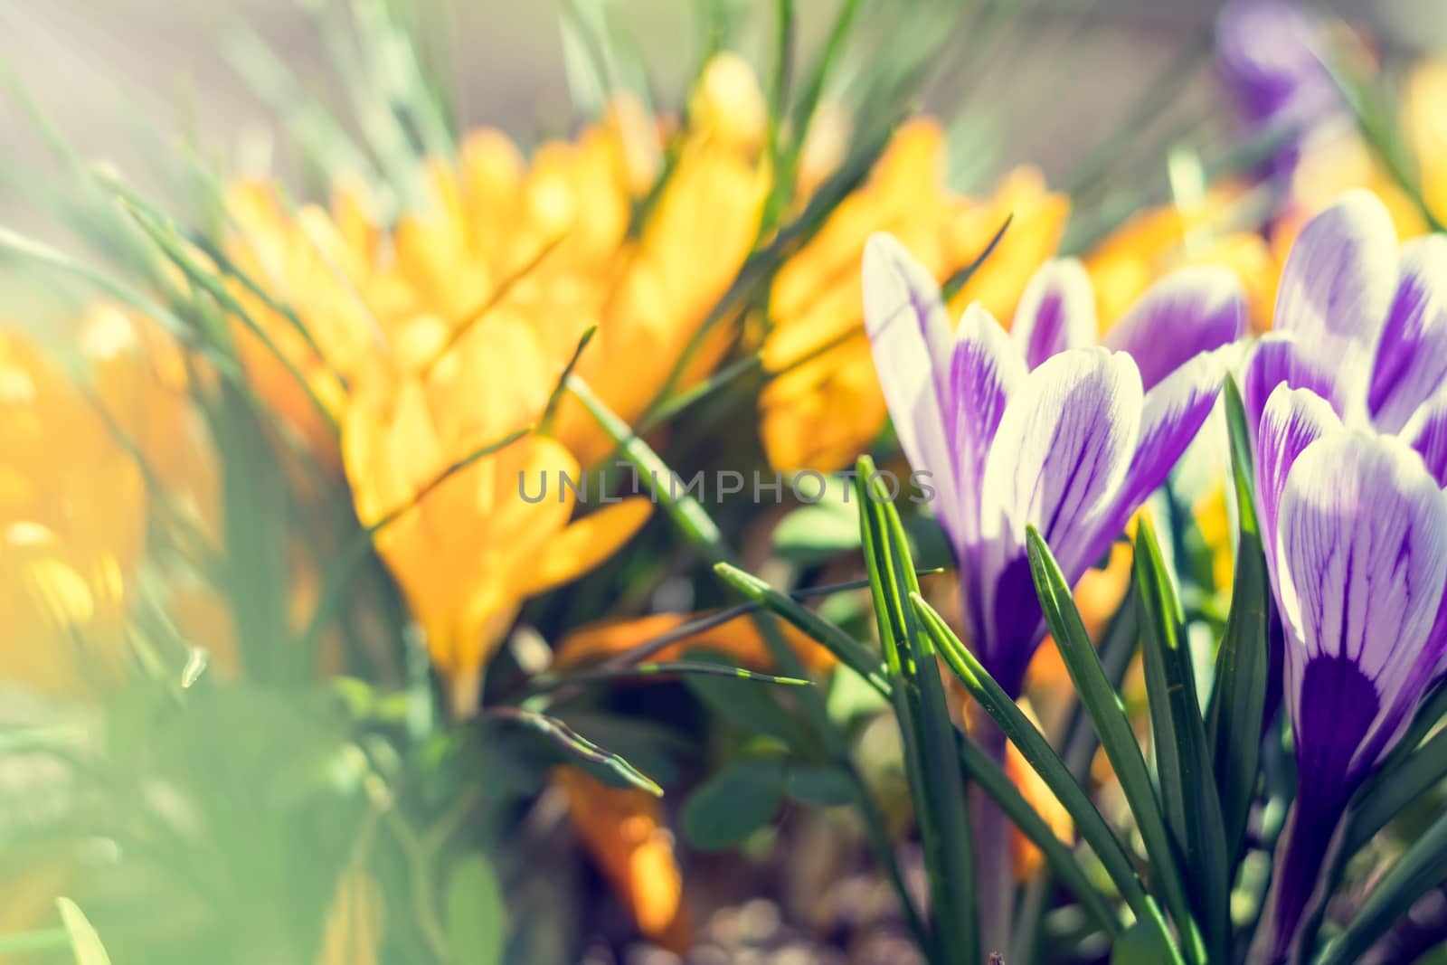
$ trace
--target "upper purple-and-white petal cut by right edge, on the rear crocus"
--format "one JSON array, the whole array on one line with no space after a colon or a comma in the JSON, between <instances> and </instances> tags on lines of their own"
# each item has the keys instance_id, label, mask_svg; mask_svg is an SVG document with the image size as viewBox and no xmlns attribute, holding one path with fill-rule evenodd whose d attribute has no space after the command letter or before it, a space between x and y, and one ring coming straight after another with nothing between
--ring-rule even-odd
<instances>
[{"instance_id":1,"label":"upper purple-and-white petal cut by right edge, on the rear crocus","mask_svg":"<svg viewBox=\"0 0 1447 965\"><path fill-rule=\"evenodd\" d=\"M1367 408L1373 424L1401 431L1447 378L1447 236L1402 246L1396 297L1376 350Z\"/></svg>"}]
</instances>

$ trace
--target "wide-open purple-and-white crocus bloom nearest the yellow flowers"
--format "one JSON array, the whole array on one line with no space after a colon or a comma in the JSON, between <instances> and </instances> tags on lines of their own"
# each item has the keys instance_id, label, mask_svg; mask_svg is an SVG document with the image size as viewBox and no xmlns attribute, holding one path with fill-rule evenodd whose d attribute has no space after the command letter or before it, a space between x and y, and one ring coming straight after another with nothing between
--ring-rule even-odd
<instances>
[{"instance_id":1,"label":"wide-open purple-and-white crocus bloom nearest the yellow flowers","mask_svg":"<svg viewBox=\"0 0 1447 965\"><path fill-rule=\"evenodd\" d=\"M1097 341L1075 260L1032 278L1006 331L978 304L952 327L929 272L888 234L864 249L864 318L884 399L959 564L964 637L1011 696L1045 638L1024 548L1035 525L1085 574L1205 421L1242 334L1240 284L1181 269Z\"/></svg>"}]
</instances>

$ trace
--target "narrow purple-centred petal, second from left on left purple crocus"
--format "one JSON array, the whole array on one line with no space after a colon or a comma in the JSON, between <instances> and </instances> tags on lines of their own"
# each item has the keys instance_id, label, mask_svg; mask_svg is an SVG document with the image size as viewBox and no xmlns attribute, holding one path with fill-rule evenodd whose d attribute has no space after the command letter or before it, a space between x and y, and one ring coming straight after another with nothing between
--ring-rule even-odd
<instances>
[{"instance_id":1,"label":"narrow purple-centred petal, second from left on left purple crocus","mask_svg":"<svg viewBox=\"0 0 1447 965\"><path fill-rule=\"evenodd\" d=\"M985 457L1006 404L1024 376L1024 360L1010 336L984 307L978 302L969 305L955 330L955 354L949 367L954 405L945 412L954 451L959 457L961 528L951 535L961 556L980 540Z\"/></svg>"}]
</instances>

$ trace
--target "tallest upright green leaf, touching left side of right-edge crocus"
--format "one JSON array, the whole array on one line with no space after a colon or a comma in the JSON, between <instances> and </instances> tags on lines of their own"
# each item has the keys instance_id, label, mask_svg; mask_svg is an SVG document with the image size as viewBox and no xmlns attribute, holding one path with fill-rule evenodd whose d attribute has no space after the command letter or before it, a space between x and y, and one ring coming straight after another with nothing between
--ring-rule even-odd
<instances>
[{"instance_id":1,"label":"tallest upright green leaf, touching left side of right-edge crocus","mask_svg":"<svg viewBox=\"0 0 1447 965\"><path fill-rule=\"evenodd\" d=\"M1246 817L1256 793L1260 764L1262 713L1266 706L1268 608L1270 587L1256 521L1252 433L1234 379L1226 381L1226 422L1236 485L1237 547L1231 611L1215 655L1215 687L1207 713L1215 786L1221 793L1221 823L1231 867L1242 854ZM1234 877L1234 874L1233 874Z\"/></svg>"}]
</instances>

